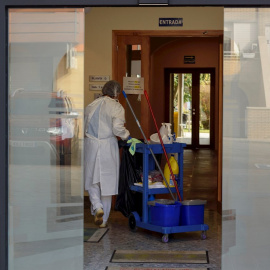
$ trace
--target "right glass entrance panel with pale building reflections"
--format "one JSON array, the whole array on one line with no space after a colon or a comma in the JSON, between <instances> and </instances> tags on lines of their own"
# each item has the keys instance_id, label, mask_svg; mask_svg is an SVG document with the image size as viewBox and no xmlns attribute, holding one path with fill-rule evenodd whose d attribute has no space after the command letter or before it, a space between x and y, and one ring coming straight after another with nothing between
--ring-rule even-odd
<instances>
[{"instance_id":1,"label":"right glass entrance panel with pale building reflections","mask_svg":"<svg viewBox=\"0 0 270 270\"><path fill-rule=\"evenodd\" d=\"M225 38L231 39L231 51L224 54L222 270L266 270L270 264L270 9L224 11L224 34L230 33Z\"/></svg>"}]
</instances>

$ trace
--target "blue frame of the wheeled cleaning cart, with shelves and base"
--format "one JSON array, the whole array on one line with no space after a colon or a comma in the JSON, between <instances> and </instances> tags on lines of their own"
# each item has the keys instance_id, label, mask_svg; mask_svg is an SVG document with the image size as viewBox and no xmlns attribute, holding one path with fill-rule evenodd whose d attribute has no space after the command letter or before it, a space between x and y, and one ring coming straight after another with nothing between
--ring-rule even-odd
<instances>
[{"instance_id":1,"label":"blue frame of the wheeled cleaning cart, with shelves and base","mask_svg":"<svg viewBox=\"0 0 270 270\"><path fill-rule=\"evenodd\" d=\"M164 144L166 152L168 154L178 154L178 165L179 165L179 179L178 179L178 189L180 196L183 200L183 165L184 165L184 147L185 143L173 143ZM161 144L136 144L136 152L143 154L143 179L148 179L148 173L155 169L155 162L150 152L152 149L154 154L163 154L163 149ZM169 193L168 188L150 188L148 187L148 181L143 181L143 186L132 185L131 190L142 193L142 216L137 212L132 212L129 216L129 227L132 231L136 229L143 228L150 231L163 233L162 242L167 243L169 241L169 234L172 233L182 233L182 232L192 232L201 231L201 238L206 239L206 231L209 230L207 224L196 224L196 225L185 225L185 226L170 226L163 227L158 225L153 225L149 223L149 195L154 194L167 194ZM172 193L176 193L176 188L171 188Z\"/></svg>"}]
</instances>

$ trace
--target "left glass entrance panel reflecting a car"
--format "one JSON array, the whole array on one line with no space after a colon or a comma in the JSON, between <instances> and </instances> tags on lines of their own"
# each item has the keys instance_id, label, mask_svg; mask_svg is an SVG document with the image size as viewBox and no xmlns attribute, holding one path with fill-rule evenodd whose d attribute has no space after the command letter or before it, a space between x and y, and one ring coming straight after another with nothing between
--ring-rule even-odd
<instances>
[{"instance_id":1,"label":"left glass entrance panel reflecting a car","mask_svg":"<svg viewBox=\"0 0 270 270\"><path fill-rule=\"evenodd\" d=\"M9 269L83 269L83 9L9 10Z\"/></svg>"}]
</instances>

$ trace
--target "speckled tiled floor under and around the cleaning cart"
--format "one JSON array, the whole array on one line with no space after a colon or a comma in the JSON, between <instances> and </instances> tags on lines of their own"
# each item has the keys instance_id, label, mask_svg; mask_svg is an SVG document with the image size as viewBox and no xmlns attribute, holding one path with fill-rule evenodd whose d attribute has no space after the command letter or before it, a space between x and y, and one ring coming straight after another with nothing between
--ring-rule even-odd
<instances>
[{"instance_id":1,"label":"speckled tiled floor under and around the cleaning cart","mask_svg":"<svg viewBox=\"0 0 270 270\"><path fill-rule=\"evenodd\" d=\"M185 150L184 199L206 199L205 223L209 225L207 239L201 240L201 232L170 234L168 243L162 243L162 234L138 229L129 230L128 219L120 212L112 211L109 231L99 243L84 244L84 270L105 270L106 266L140 267L208 267L221 269L221 216L216 212L216 155L211 150ZM85 226L94 226L89 208L85 209ZM207 250L209 264L128 264L110 263L116 249L139 250Z\"/></svg>"}]
</instances>

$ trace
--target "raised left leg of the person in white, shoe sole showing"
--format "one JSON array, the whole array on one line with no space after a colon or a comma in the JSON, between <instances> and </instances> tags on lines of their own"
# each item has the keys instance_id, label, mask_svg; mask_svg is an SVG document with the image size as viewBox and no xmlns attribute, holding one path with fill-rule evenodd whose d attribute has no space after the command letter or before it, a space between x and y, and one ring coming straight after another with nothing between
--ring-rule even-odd
<instances>
[{"instance_id":1,"label":"raised left leg of the person in white, shoe sole showing","mask_svg":"<svg viewBox=\"0 0 270 270\"><path fill-rule=\"evenodd\" d=\"M95 215L95 224L101 225L103 222L103 204L101 202L101 192L100 192L100 185L93 184L90 186L89 190L89 199L91 202L91 213Z\"/></svg>"}]
</instances>

